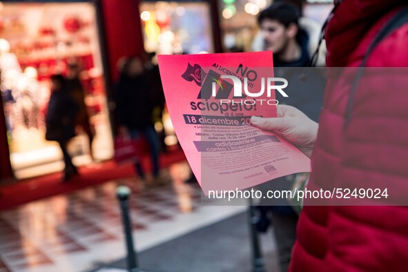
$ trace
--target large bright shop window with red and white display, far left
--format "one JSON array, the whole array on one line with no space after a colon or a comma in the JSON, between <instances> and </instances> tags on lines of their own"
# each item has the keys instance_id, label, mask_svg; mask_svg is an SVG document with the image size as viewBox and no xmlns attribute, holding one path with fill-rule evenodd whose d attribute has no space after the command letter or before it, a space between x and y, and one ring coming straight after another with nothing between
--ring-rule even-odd
<instances>
[{"instance_id":1,"label":"large bright shop window with red and white display, far left","mask_svg":"<svg viewBox=\"0 0 408 272\"><path fill-rule=\"evenodd\" d=\"M60 171L61 151L46 141L44 117L50 75L80 70L84 103L95 134L93 159L112 157L97 12L93 3L0 2L1 95L17 178ZM92 162L88 136L77 128L68 146L77 165Z\"/></svg>"}]
</instances>

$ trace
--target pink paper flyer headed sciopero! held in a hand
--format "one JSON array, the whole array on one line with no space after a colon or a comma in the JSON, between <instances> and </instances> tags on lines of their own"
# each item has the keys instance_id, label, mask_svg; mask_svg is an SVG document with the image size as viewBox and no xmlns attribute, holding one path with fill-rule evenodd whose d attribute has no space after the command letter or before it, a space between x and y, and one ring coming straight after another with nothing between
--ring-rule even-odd
<instances>
[{"instance_id":1,"label":"pink paper flyer headed sciopero! held in a hand","mask_svg":"<svg viewBox=\"0 0 408 272\"><path fill-rule=\"evenodd\" d=\"M159 55L164 95L195 177L210 191L242 190L293 173L310 160L281 137L251 126L276 117L285 79L272 52Z\"/></svg>"}]
</instances>

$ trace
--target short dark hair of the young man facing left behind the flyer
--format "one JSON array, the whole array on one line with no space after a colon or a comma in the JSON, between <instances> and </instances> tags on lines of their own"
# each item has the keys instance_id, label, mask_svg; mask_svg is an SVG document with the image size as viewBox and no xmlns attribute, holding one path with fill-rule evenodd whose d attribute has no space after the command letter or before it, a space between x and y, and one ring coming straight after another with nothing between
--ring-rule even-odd
<instances>
[{"instance_id":1,"label":"short dark hair of the young man facing left behind the flyer","mask_svg":"<svg viewBox=\"0 0 408 272\"><path fill-rule=\"evenodd\" d=\"M258 23L261 24L264 19L276 20L287 28L291 23L299 26L299 18L300 10L297 6L293 3L280 1L262 10L258 17Z\"/></svg>"}]
</instances>

